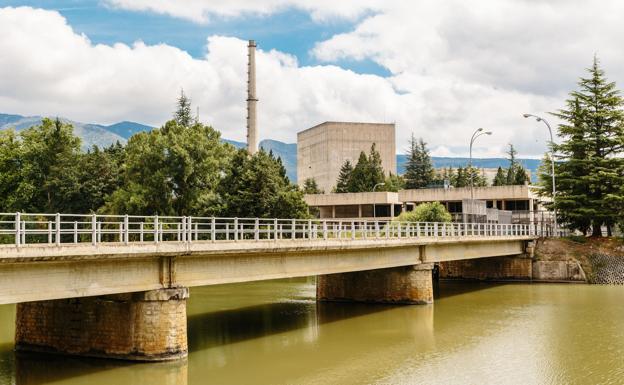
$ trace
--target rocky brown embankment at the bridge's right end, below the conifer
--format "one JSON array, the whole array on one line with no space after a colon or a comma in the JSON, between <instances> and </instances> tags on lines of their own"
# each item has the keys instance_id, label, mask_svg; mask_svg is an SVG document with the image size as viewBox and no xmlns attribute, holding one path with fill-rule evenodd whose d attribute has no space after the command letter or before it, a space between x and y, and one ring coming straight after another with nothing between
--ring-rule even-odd
<instances>
[{"instance_id":1,"label":"rocky brown embankment at the bridge's right end, below the conifer","mask_svg":"<svg viewBox=\"0 0 624 385\"><path fill-rule=\"evenodd\" d=\"M624 241L616 238L540 239L533 279L624 285Z\"/></svg>"}]
</instances>

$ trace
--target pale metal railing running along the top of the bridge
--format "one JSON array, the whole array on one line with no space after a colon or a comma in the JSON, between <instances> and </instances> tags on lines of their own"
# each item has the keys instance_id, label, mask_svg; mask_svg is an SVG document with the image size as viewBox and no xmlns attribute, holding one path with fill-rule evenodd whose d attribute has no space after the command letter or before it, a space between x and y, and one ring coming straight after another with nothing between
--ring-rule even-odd
<instances>
[{"instance_id":1,"label":"pale metal railing running along the top of the bridge","mask_svg":"<svg viewBox=\"0 0 624 385\"><path fill-rule=\"evenodd\" d=\"M0 244L532 236L527 224L0 213Z\"/></svg>"}]
</instances>

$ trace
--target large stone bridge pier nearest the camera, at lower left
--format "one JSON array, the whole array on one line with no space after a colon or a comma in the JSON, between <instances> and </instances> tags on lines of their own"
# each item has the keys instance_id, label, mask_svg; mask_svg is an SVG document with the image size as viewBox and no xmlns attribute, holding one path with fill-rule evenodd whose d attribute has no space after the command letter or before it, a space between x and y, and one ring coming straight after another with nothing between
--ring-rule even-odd
<instances>
[{"instance_id":1,"label":"large stone bridge pier nearest the camera, at lower left","mask_svg":"<svg viewBox=\"0 0 624 385\"><path fill-rule=\"evenodd\" d=\"M165 361L186 357L188 289L17 304L18 351Z\"/></svg>"}]
</instances>

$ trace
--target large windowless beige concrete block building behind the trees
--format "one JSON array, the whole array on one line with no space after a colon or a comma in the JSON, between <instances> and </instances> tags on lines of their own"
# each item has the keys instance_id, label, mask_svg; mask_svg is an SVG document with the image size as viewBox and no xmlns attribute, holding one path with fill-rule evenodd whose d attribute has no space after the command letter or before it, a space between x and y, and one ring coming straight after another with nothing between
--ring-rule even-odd
<instances>
[{"instance_id":1,"label":"large windowless beige concrete block building behind the trees","mask_svg":"<svg viewBox=\"0 0 624 385\"><path fill-rule=\"evenodd\" d=\"M357 163L371 145L381 155L386 175L396 174L394 123L325 122L297 133L297 181L314 178L320 189L331 192L346 160Z\"/></svg>"}]
</instances>

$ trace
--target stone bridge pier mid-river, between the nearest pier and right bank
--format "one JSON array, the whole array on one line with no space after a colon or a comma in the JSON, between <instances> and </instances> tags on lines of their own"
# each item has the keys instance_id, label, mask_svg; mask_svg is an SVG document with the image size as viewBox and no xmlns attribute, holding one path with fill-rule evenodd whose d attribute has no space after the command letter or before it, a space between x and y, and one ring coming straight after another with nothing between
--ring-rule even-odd
<instances>
[{"instance_id":1,"label":"stone bridge pier mid-river, between the nearest pier and right bank","mask_svg":"<svg viewBox=\"0 0 624 385\"><path fill-rule=\"evenodd\" d=\"M432 263L319 275L316 299L377 303L433 303Z\"/></svg>"}]
</instances>

